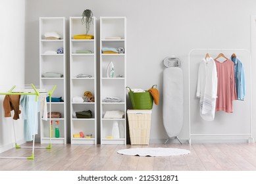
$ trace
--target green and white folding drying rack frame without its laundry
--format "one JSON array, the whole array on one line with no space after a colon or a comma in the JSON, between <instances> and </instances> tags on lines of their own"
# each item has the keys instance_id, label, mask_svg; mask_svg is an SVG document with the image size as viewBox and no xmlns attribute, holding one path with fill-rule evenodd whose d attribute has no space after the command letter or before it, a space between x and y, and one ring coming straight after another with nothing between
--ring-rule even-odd
<instances>
[{"instance_id":1,"label":"green and white folding drying rack frame without its laundry","mask_svg":"<svg viewBox=\"0 0 256 184\"><path fill-rule=\"evenodd\" d=\"M16 85L13 85L13 87L9 91L7 91L6 93L0 93L0 95L36 95L36 102L37 102L38 101L38 97L39 97L40 94L48 94L49 95L49 113L51 115L51 97L53 95L53 91L55 91L55 88L57 86L54 85L51 90L45 91L45 92L39 92L38 89L36 89L36 87L33 84L30 84L30 86L32 87L31 89L34 90L33 92L28 92L28 93L25 93L25 92L13 92L13 90L16 87ZM47 105L47 104L45 104L45 105ZM37 113L37 112L38 111L36 109L35 113ZM35 120L34 120L35 124L37 122L36 117L37 116L35 116ZM50 128L49 129L49 132L50 132L51 131L51 116L49 116L49 128ZM34 132L35 132L35 130L36 130L36 126L34 126ZM14 120L13 120L13 131L14 131L15 148L16 149L22 149L22 148L29 149L29 148L32 148L32 154L31 154L31 156L28 156L28 157L25 157L25 156L0 156L0 158L22 158L22 159L34 160L34 149L51 149L51 135L50 134L49 134L49 146L47 146L47 147L35 147L35 133L33 135L32 146L30 146L30 147L22 147L22 146L19 146L18 143L16 143Z\"/></svg>"}]
</instances>

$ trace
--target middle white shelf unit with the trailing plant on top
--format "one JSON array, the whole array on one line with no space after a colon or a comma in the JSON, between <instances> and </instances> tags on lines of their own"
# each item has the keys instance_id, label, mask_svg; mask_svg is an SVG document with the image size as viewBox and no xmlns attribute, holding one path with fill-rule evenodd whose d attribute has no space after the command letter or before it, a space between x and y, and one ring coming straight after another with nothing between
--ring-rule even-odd
<instances>
[{"instance_id":1,"label":"middle white shelf unit with the trailing plant on top","mask_svg":"<svg viewBox=\"0 0 256 184\"><path fill-rule=\"evenodd\" d=\"M74 39L74 35L86 34L81 17L70 17L70 131L71 144L97 144L97 74L96 74L96 18L90 26L88 35L94 39ZM77 53L77 50L89 50L92 53ZM90 78L77 78L78 74L90 75ZM73 97L84 97L90 91L94 102L76 103ZM91 110L91 118L76 118L76 112ZM85 137L74 137L82 131ZM92 134L91 138L86 135Z\"/></svg>"}]
</instances>

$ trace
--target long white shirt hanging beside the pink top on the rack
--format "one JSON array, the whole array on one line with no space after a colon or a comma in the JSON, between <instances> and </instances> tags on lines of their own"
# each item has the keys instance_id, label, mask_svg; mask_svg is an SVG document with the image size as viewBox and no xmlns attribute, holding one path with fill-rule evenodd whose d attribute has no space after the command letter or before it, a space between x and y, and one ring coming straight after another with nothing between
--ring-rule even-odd
<instances>
[{"instance_id":1,"label":"long white shirt hanging beside the pink top on the rack","mask_svg":"<svg viewBox=\"0 0 256 184\"><path fill-rule=\"evenodd\" d=\"M213 58L203 58L199 64L196 97L200 98L200 116L213 121L217 99L217 69Z\"/></svg>"}]
</instances>

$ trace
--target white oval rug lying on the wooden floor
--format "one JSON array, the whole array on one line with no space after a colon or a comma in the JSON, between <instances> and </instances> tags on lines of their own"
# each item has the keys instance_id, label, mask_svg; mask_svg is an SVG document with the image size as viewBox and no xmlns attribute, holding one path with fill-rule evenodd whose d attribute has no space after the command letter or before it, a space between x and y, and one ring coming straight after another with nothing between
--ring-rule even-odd
<instances>
[{"instance_id":1,"label":"white oval rug lying on the wooden floor","mask_svg":"<svg viewBox=\"0 0 256 184\"><path fill-rule=\"evenodd\" d=\"M176 156L190 154L190 150L172 148L134 148L118 150L117 153L132 156Z\"/></svg>"}]
</instances>

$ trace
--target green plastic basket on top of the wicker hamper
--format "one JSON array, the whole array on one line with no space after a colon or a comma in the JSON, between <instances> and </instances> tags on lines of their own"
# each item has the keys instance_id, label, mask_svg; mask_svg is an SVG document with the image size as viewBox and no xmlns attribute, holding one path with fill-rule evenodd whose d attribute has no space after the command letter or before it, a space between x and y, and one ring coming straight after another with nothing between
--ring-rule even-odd
<instances>
[{"instance_id":1,"label":"green plastic basket on top of the wicker hamper","mask_svg":"<svg viewBox=\"0 0 256 184\"><path fill-rule=\"evenodd\" d=\"M153 85L153 87L157 87L157 85ZM149 91L134 93L130 87L126 87L126 89L129 89L128 95L134 110L150 110L153 108L153 97Z\"/></svg>"}]
</instances>

